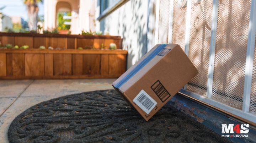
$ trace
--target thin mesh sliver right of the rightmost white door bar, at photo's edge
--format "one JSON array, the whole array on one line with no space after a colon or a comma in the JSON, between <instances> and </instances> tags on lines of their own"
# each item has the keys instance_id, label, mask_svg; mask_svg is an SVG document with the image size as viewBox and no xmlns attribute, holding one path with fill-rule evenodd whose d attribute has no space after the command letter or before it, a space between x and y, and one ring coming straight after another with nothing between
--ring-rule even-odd
<instances>
[{"instance_id":1,"label":"thin mesh sliver right of the rightmost white door bar, at photo's edge","mask_svg":"<svg viewBox=\"0 0 256 143\"><path fill-rule=\"evenodd\" d=\"M254 48L254 63L252 70L252 84L251 84L251 99L250 99L250 112L256 114L256 39Z\"/></svg>"}]
</instances>

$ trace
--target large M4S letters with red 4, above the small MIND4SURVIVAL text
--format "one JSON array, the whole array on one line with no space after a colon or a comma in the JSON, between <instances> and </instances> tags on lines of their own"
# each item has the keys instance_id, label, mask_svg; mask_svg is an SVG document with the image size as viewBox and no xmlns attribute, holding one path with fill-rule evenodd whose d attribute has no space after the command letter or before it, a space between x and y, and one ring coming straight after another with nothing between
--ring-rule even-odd
<instances>
[{"instance_id":1,"label":"large M4S letters with red 4, above the small MIND4SURVIVAL text","mask_svg":"<svg viewBox=\"0 0 256 143\"><path fill-rule=\"evenodd\" d=\"M222 133L248 133L249 124L222 124Z\"/></svg>"}]
</instances>

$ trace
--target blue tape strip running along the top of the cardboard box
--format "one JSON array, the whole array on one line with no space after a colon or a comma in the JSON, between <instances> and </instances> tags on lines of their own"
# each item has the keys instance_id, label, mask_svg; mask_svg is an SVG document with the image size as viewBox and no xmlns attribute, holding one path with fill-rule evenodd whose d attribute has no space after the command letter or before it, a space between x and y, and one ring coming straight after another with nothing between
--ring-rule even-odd
<instances>
[{"instance_id":1,"label":"blue tape strip running along the top of the cardboard box","mask_svg":"<svg viewBox=\"0 0 256 143\"><path fill-rule=\"evenodd\" d=\"M121 81L116 84L116 88L120 88L130 78L132 78L140 69L142 69L150 60L152 60L167 44L159 45L152 53L150 53L142 62L140 62L131 72L129 72Z\"/></svg>"}]
</instances>

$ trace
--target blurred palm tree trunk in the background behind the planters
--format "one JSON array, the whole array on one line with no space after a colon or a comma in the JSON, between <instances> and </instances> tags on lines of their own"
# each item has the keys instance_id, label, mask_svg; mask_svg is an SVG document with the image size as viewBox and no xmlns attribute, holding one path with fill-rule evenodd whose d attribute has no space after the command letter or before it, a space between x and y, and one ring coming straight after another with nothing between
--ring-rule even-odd
<instances>
[{"instance_id":1,"label":"blurred palm tree trunk in the background behind the planters","mask_svg":"<svg viewBox=\"0 0 256 143\"><path fill-rule=\"evenodd\" d=\"M28 28L30 31L37 31L37 16L38 16L38 2L43 0L24 0L24 4L27 6L28 11Z\"/></svg>"}]
</instances>

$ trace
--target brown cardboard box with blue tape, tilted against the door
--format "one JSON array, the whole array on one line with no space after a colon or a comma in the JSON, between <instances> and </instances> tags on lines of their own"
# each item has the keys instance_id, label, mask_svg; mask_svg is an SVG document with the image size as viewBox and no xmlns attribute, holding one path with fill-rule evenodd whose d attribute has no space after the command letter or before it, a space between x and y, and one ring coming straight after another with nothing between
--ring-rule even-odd
<instances>
[{"instance_id":1,"label":"brown cardboard box with blue tape, tilted against the door","mask_svg":"<svg viewBox=\"0 0 256 143\"><path fill-rule=\"evenodd\" d=\"M112 86L148 121L198 73L177 44L158 44Z\"/></svg>"}]
</instances>

